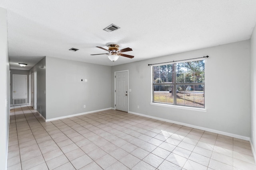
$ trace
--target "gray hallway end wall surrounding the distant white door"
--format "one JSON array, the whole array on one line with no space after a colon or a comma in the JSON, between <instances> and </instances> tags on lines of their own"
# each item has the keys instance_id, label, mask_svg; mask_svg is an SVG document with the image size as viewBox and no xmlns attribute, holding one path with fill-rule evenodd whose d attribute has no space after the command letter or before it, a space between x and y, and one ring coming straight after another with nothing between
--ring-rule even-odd
<instances>
[{"instance_id":1,"label":"gray hallway end wall surrounding the distant white door","mask_svg":"<svg viewBox=\"0 0 256 170\"><path fill-rule=\"evenodd\" d=\"M27 103L29 103L29 98L30 98L30 92L29 92L29 70L14 70L14 69L11 69L11 72L10 72L10 104L12 105L13 104L13 98L12 98L12 75L13 74L23 74L23 75L27 75Z\"/></svg>"}]
</instances>

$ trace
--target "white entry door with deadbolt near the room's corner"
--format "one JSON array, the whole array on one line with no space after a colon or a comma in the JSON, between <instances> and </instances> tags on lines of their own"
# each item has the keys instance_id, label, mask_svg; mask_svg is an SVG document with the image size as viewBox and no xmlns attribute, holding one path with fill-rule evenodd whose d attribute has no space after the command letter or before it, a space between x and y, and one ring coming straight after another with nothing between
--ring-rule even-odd
<instances>
[{"instance_id":1,"label":"white entry door with deadbolt near the room's corner","mask_svg":"<svg viewBox=\"0 0 256 170\"><path fill-rule=\"evenodd\" d=\"M128 72L116 72L116 109L128 111Z\"/></svg>"}]
</instances>

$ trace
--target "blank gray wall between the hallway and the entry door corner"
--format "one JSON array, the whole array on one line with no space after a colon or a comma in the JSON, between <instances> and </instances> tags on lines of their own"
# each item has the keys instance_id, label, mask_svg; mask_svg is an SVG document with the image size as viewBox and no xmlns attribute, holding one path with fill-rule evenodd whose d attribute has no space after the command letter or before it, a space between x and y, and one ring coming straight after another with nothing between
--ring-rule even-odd
<instances>
[{"instance_id":1,"label":"blank gray wall between the hallway and the entry door corner","mask_svg":"<svg viewBox=\"0 0 256 170\"><path fill-rule=\"evenodd\" d=\"M110 96L110 66L46 57L47 119L110 108Z\"/></svg>"}]
</instances>

